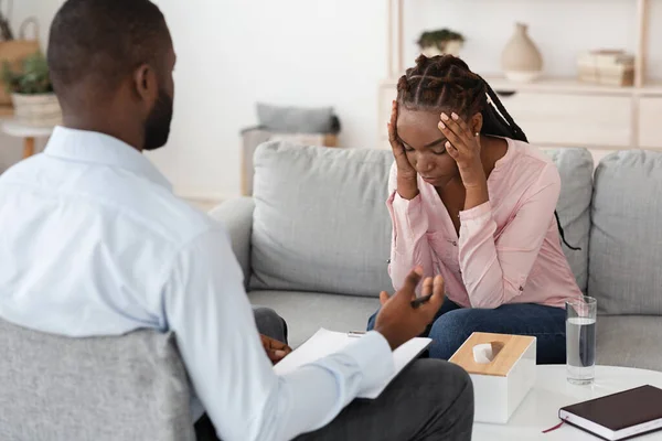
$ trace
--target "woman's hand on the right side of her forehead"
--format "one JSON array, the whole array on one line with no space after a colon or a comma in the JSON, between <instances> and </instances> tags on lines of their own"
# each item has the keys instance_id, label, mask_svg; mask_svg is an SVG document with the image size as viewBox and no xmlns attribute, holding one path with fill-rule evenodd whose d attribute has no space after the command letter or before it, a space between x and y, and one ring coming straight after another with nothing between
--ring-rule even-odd
<instances>
[{"instance_id":1,"label":"woman's hand on the right side of her forehead","mask_svg":"<svg viewBox=\"0 0 662 441\"><path fill-rule=\"evenodd\" d=\"M465 187L485 183L485 171L480 157L480 133L473 133L456 112L441 114L439 130L446 137L446 151L458 163Z\"/></svg>"}]
</instances>

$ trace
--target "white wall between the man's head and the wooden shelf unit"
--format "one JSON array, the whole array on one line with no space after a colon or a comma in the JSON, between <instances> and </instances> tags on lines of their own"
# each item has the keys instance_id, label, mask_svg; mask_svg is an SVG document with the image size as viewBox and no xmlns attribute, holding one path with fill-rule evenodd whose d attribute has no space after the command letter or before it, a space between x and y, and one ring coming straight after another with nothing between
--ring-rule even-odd
<instances>
[{"instance_id":1,"label":"white wall between the man's head and the wooden shelf unit","mask_svg":"<svg viewBox=\"0 0 662 441\"><path fill-rule=\"evenodd\" d=\"M180 193L239 191L239 129L257 100L333 105L345 146L376 143L386 72L380 0L159 0L175 41L175 120L154 161Z\"/></svg>"}]
</instances>

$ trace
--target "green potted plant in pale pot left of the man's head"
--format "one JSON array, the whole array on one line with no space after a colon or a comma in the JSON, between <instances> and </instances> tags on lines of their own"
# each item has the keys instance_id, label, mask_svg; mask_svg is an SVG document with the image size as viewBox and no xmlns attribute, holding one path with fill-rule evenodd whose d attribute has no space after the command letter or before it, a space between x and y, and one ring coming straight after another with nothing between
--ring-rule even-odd
<instances>
[{"instance_id":1,"label":"green potted plant in pale pot left of the man's head","mask_svg":"<svg viewBox=\"0 0 662 441\"><path fill-rule=\"evenodd\" d=\"M29 56L21 69L4 63L2 80L11 94L14 116L28 126L55 126L62 121L60 103L53 92L49 63L41 53Z\"/></svg>"}]
</instances>

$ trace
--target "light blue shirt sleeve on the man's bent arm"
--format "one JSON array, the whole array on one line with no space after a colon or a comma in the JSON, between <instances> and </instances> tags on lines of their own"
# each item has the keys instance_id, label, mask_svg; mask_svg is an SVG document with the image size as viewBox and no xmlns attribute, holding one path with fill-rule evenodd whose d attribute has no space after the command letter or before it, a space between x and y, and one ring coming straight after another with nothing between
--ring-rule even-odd
<instances>
[{"instance_id":1,"label":"light blue shirt sleeve on the man's bent arm","mask_svg":"<svg viewBox=\"0 0 662 441\"><path fill-rule=\"evenodd\" d=\"M388 343L371 332L344 351L277 376L223 229L180 250L163 309L194 392L226 441L289 440L317 430L394 370Z\"/></svg>"}]
</instances>

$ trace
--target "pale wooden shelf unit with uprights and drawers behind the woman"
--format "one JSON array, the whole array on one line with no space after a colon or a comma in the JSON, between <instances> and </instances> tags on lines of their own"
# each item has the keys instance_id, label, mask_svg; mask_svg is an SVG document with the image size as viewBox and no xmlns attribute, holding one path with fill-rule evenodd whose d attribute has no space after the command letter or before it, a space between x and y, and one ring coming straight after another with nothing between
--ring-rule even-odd
<instances>
[{"instance_id":1,"label":"pale wooden shelf unit with uprights and drawers behind the woman","mask_svg":"<svg viewBox=\"0 0 662 441\"><path fill-rule=\"evenodd\" d=\"M388 148L382 121L387 120L404 65L404 0L388 2L388 76L380 84L380 144ZM637 0L634 86L581 83L575 77L543 77L512 83L484 76L509 112L543 147L586 147L596 158L622 149L662 149L662 82L645 78L651 0Z\"/></svg>"}]
</instances>

